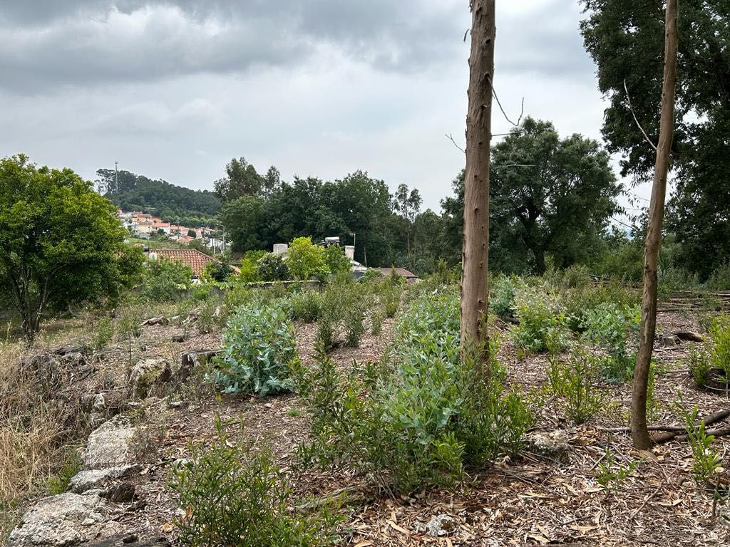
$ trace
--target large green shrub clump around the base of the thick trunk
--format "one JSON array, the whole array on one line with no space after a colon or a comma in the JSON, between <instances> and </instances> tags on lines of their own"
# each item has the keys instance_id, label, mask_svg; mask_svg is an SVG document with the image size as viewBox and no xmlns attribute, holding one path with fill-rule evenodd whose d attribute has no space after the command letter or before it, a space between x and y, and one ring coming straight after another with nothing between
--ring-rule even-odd
<instances>
[{"instance_id":1,"label":"large green shrub clump around the base of the thick trunk","mask_svg":"<svg viewBox=\"0 0 730 547\"><path fill-rule=\"evenodd\" d=\"M312 416L304 465L347 466L412 492L453 485L465 466L519 451L532 423L526 403L504 388L496 360L489 381L461 361L458 324L455 294L424 295L401 316L380 365L342 376L320 351L299 381Z\"/></svg>"}]
</instances>

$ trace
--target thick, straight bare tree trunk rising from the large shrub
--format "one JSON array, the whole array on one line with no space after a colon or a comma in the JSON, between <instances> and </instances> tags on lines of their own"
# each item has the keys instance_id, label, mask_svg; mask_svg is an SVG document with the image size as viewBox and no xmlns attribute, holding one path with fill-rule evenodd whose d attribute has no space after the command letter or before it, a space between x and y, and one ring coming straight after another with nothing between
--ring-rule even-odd
<instances>
[{"instance_id":1,"label":"thick, straight bare tree trunk rising from the large shrub","mask_svg":"<svg viewBox=\"0 0 730 547\"><path fill-rule=\"evenodd\" d=\"M466 114L464 244L461 263L461 348L480 349L488 366L489 154L494 73L495 0L472 0L469 111ZM485 371L488 375L488 369Z\"/></svg>"}]
</instances>

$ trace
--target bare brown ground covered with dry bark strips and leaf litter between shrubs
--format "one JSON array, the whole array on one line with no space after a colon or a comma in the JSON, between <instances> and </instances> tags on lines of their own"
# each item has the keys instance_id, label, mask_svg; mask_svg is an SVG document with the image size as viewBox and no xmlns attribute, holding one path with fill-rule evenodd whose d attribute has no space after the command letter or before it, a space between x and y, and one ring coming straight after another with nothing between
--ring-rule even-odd
<instances>
[{"instance_id":1,"label":"bare brown ground covered with dry bark strips and leaf litter between shrubs","mask_svg":"<svg viewBox=\"0 0 730 547\"><path fill-rule=\"evenodd\" d=\"M305 364L312 362L315 325L297 325L299 352ZM393 324L384 322L379 337L366 335L358 349L335 349L331 357L340 367L353 360L380 358L391 338ZM503 327L507 330L507 326ZM658 332L698 330L694 319L677 314L660 314ZM172 343L180 327L145 327L135 342L132 361L139 357L161 356L180 362L186 349L217 349L220 335L191 335L183 343ZM545 384L544 356L518 359L504 336L500 359L507 364L510 381L529 390ZM684 362L691 343L671 349L656 347L656 360L664 372L658 376L656 397L660 403L654 424L681 424L672 405L681 389L685 406L697 405L701 415L728 408L725 393L696 389ZM144 351L140 350L142 346ZM99 368L108 383L122 386L128 373L128 346L118 344L99 356ZM87 380L88 381L88 380ZM97 380L99 382L100 380ZM99 389L85 385L84 389ZM410 497L391 499L377 492L351 473L306 470L293 478L299 497L323 497L342 489L356 492L342 526L346 546L639 546L639 545L730 545L730 527L721 514L730 514L723 505L713 511L712 495L694 484L689 466L690 447L686 442L657 446L638 454L628 434L607 429L625 426L628 419L630 385L604 384L610 403L587 424L566 422L550 404L537 416L537 430L562 429L569 438L569 462L545 461L526 453L516 461L498 462L492 468L472 473L456 491L431 489ZM177 401L182 401L177 406ZM174 403L172 406L170 403ZM291 470L294 450L307 438L307 416L299 397L218 397L200 379L192 379L166 399L151 398L139 418L143 433L138 448L142 468L134 476L137 503L119 505L115 519L137 530L140 538L166 535L173 538L172 521L176 506L166 483L169 466L189 454L191 443L215 435L213 420L220 416L231 423L231 432L240 432L258 443L269 443L280 466ZM718 450L725 454L730 438L718 438ZM596 480L596 469L610 448L618 462L645 457L615 492L605 492ZM353 498L355 499L355 498ZM713 512L715 517L713 517ZM435 538L421 532L421 525L434 516L446 514L456 521L453 532Z\"/></svg>"}]
</instances>

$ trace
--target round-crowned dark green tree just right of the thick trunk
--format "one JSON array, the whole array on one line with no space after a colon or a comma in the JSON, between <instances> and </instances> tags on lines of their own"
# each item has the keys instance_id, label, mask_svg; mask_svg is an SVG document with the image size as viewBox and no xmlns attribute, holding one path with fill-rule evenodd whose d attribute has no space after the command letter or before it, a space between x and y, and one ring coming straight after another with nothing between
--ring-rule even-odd
<instances>
[{"instance_id":1,"label":"round-crowned dark green tree just right of the thick trunk","mask_svg":"<svg viewBox=\"0 0 730 547\"><path fill-rule=\"evenodd\" d=\"M621 191L598 142L561 139L550 122L527 118L493 147L490 261L510 270L545 257L558 268L586 260L604 233Z\"/></svg>"}]
</instances>

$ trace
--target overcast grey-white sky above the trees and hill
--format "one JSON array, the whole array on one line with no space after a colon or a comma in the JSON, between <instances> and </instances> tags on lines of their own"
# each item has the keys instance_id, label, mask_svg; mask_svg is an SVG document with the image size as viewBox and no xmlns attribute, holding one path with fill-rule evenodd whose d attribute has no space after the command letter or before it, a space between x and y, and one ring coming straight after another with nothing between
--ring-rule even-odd
<instances>
[{"instance_id":1,"label":"overcast grey-white sky above the trees and hill","mask_svg":"<svg viewBox=\"0 0 730 547\"><path fill-rule=\"evenodd\" d=\"M577 0L497 4L508 114L524 97L600 139ZM445 134L464 141L470 21L466 0L1 0L0 156L199 189L240 155L285 180L364 169L439 210L464 164Z\"/></svg>"}]
</instances>

